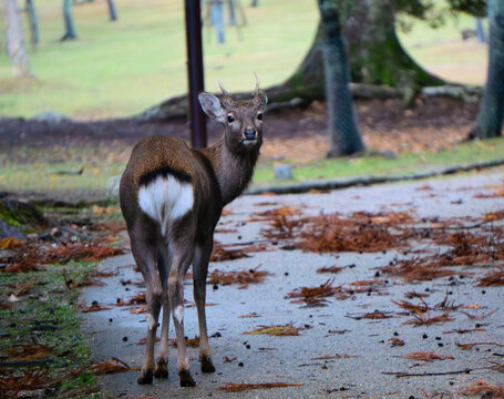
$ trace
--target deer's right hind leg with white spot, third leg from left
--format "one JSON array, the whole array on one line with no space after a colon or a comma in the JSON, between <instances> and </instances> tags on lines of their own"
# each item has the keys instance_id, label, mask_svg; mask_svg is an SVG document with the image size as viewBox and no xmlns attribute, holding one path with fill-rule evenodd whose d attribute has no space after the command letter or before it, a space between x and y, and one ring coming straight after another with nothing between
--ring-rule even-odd
<instances>
[{"instance_id":1,"label":"deer's right hind leg with white spot, third leg from left","mask_svg":"<svg viewBox=\"0 0 504 399\"><path fill-rule=\"evenodd\" d=\"M181 387L194 387L189 370L189 358L184 337L184 275L191 265L193 253L175 252L168 276L168 298L173 310L173 324L177 338L177 369Z\"/></svg>"}]
</instances>

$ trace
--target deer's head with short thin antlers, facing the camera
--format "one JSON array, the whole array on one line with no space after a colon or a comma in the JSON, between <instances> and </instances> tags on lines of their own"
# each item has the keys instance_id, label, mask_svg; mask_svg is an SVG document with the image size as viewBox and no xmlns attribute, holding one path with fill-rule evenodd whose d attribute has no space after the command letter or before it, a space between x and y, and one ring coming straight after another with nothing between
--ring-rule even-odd
<instances>
[{"instance_id":1,"label":"deer's head with short thin antlers, facing the camera","mask_svg":"<svg viewBox=\"0 0 504 399\"><path fill-rule=\"evenodd\" d=\"M248 100L234 100L218 83L223 91L220 100L207 92L199 93L203 110L225 126L226 145L232 151L257 151L263 144L263 114L268 103L265 91L259 89L257 75L256 89Z\"/></svg>"}]
</instances>

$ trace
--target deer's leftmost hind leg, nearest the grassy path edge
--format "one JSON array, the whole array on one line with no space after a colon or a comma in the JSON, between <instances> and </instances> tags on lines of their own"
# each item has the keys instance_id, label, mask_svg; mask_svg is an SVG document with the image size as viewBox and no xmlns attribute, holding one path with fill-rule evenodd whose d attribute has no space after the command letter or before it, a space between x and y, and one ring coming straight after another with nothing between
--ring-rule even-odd
<instances>
[{"instance_id":1,"label":"deer's leftmost hind leg, nearest the grassy path edge","mask_svg":"<svg viewBox=\"0 0 504 399\"><path fill-rule=\"evenodd\" d=\"M137 225L140 228L141 226ZM140 385L152 383L154 371L154 344L156 338L157 319L163 298L163 286L157 269L157 247L153 243L143 239L145 237L145 227L140 234L130 234L132 238L131 248L136 265L144 276L147 287L146 301L147 313L147 341L145 345L144 361L137 382Z\"/></svg>"}]
</instances>

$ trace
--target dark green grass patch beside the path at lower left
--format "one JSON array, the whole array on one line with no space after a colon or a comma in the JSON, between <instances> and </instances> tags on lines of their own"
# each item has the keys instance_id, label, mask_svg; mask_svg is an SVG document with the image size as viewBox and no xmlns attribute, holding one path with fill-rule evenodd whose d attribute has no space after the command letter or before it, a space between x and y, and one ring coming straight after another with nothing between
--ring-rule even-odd
<instances>
[{"instance_id":1,"label":"dark green grass patch beside the path at lower left","mask_svg":"<svg viewBox=\"0 0 504 399\"><path fill-rule=\"evenodd\" d=\"M71 275L94 267L96 264L92 263L65 265ZM96 377L88 370L91 366L89 347L80 331L76 314L80 293L65 288L61 269L61 266L47 266L44 272L1 273L0 296L8 295L16 284L31 283L32 287L29 295L21 296L11 308L0 310L0 354L6 356L7 349L35 339L38 344L52 348L49 357L54 362L17 368L18 375L30 370L49 371L48 378L56 380L52 387L55 389L51 395L53 398L100 398ZM33 330L38 323L56 329ZM69 374L78 369L80 372L75 376Z\"/></svg>"}]
</instances>

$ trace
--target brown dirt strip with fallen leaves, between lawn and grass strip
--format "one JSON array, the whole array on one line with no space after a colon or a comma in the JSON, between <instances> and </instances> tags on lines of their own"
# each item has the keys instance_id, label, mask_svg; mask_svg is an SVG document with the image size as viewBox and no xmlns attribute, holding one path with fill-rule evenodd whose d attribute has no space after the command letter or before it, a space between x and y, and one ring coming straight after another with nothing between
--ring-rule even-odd
<instances>
[{"instance_id":1,"label":"brown dirt strip with fallen leaves, between lawn and grass strip","mask_svg":"<svg viewBox=\"0 0 504 399\"><path fill-rule=\"evenodd\" d=\"M411 110L405 110L400 100L358 101L356 106L367 146L394 153L450 147L466 136L477 112L477 104L449 99L418 100ZM311 160L323 157L328 150L323 102L313 102L302 110L270 113L266 123L264 158ZM208 142L215 142L220 132L219 125L208 123ZM136 141L153 134L188 140L189 130L185 120L156 123L132 119L89 123L0 120L0 150L92 145L124 152L121 157L126 160Z\"/></svg>"}]
</instances>

